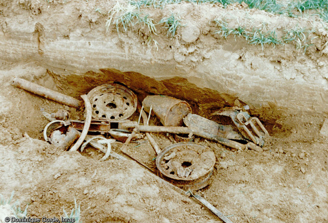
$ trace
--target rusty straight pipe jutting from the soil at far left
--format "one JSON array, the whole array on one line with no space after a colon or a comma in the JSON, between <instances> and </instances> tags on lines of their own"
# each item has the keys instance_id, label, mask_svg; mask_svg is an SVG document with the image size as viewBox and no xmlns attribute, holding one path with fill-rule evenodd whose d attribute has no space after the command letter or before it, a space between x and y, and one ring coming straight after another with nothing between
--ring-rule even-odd
<instances>
[{"instance_id":1,"label":"rusty straight pipe jutting from the soil at far left","mask_svg":"<svg viewBox=\"0 0 328 223\"><path fill-rule=\"evenodd\" d=\"M74 108L78 109L82 106L82 102L73 97L59 93L55 90L47 89L43 86L26 81L19 77L15 77L13 79L12 85L17 88L27 90L29 92L35 93L37 95L40 95L47 99L51 99L53 101L59 102L61 104L64 104L64 105L67 105L70 107L74 107Z\"/></svg>"}]
</instances>

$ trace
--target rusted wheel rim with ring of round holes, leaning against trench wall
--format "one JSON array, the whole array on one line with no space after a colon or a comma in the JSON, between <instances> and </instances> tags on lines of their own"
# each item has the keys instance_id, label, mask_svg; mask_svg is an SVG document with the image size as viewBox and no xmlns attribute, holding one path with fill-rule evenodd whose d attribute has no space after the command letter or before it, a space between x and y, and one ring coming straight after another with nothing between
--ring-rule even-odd
<instances>
[{"instance_id":1,"label":"rusted wheel rim with ring of round holes, leaning against trench wall","mask_svg":"<svg viewBox=\"0 0 328 223\"><path fill-rule=\"evenodd\" d=\"M124 120L137 109L137 96L122 85L100 85L87 95L92 104L93 119Z\"/></svg>"}]
</instances>

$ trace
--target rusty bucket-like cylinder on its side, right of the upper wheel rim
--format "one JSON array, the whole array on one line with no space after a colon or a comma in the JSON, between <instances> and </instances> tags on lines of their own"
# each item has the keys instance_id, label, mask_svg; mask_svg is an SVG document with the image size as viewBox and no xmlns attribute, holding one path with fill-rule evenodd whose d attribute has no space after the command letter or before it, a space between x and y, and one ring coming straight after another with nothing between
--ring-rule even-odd
<instances>
[{"instance_id":1,"label":"rusty bucket-like cylinder on its side, right of the upper wheel rim","mask_svg":"<svg viewBox=\"0 0 328 223\"><path fill-rule=\"evenodd\" d=\"M163 95L149 95L142 105L146 112L152 107L164 126L182 126L183 118L191 112L187 102Z\"/></svg>"}]
</instances>

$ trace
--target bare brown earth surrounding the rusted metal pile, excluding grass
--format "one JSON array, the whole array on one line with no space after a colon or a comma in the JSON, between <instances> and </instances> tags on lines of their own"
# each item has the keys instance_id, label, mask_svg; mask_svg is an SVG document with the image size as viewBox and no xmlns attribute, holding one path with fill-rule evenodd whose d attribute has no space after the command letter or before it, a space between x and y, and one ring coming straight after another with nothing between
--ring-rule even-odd
<instances>
[{"instance_id":1,"label":"bare brown earth surrounding the rusted metal pile, excluding grass","mask_svg":"<svg viewBox=\"0 0 328 223\"><path fill-rule=\"evenodd\" d=\"M317 19L278 20L258 10L247 11L257 18L253 21L256 24L265 20L272 27L281 24L281 29L296 23L318 28L319 40L305 55L294 45L276 46L274 50L265 46L261 51L260 46L246 47L243 40L227 42L212 33L213 24L208 25L208 17L216 11L221 16L227 11L233 15L247 13L241 6L223 9L183 3L166 10L186 9L189 13L185 18L202 27L199 39L196 43L183 42L180 31L177 39L168 39L165 30L159 28L162 35L158 42L164 46L157 51L142 44L147 34L134 35L146 32L140 27L119 36L115 27L106 33L107 16L94 8L107 12L114 4L101 0L1 1L0 194L9 197L15 191L14 198L22 207L29 205L28 216L39 218L59 218L63 208L71 210L75 198L85 223L221 222L206 207L163 184L129 157L128 161L110 157L101 162L103 154L91 147L83 153L55 150L42 140L47 120L40 108L46 112L64 108L76 119L83 118L83 111L11 86L13 76L19 76L78 98L100 84L115 81L133 89L140 100L150 93L187 100L194 113L216 121L220 120L210 114L217 109L247 103L271 135L265 151L239 152L197 139L210 146L216 163L209 186L196 194L234 223L328 223L328 138L320 134L328 118L325 25ZM159 9L146 10L160 17ZM213 12L205 18L206 10ZM93 44L90 47L84 45L89 40ZM100 50L104 40L113 54ZM228 49L232 51L228 53ZM226 59L220 61L220 55ZM217 61L209 62L215 58ZM258 75L260 79L256 79ZM216 85L218 78L225 81ZM266 84L259 87L259 83ZM286 89L286 94L274 93L281 89ZM154 117L151 122L159 124ZM161 149L172 144L165 134L155 134L155 138ZM119 152L118 145L113 149ZM149 143L139 147L131 144L128 151L150 170L156 170L152 160L156 154Z\"/></svg>"}]
</instances>

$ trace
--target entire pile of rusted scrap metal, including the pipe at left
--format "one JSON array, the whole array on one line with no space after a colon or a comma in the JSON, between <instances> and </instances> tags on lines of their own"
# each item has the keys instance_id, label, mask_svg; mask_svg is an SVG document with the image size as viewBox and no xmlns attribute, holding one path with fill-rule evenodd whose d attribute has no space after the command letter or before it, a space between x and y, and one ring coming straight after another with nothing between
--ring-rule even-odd
<instances>
[{"instance_id":1,"label":"entire pile of rusted scrap metal, including the pipe at left","mask_svg":"<svg viewBox=\"0 0 328 223\"><path fill-rule=\"evenodd\" d=\"M73 97L21 78L14 78L13 85L74 108L82 107L81 101ZM193 195L191 190L199 190L208 185L208 179L212 175L215 164L215 155L211 148L192 142L195 135L237 150L253 149L258 152L263 151L261 147L264 144L264 136L268 135L258 118L251 117L239 108L212 114L230 117L234 123L234 126L231 126L221 125L193 114L186 101L169 96L149 95L140 104L132 90L119 84L98 86L81 97L85 104L85 120L83 121L71 120L67 111L51 114L42 111L50 121L44 129L46 141L62 150L77 151L80 148L81 152L90 143L105 153L101 160L109 156L126 159L113 152L111 144L121 143L120 150L126 153L131 140L146 136L157 154L158 175L188 190L191 195ZM137 109L138 121L129 120L128 118ZM160 119L163 126L149 125L152 113ZM141 118L143 124L141 124ZM95 133L99 135L94 136ZM160 148L151 133L174 134L174 142L182 142ZM111 138L106 138L105 135L110 135ZM193 196L223 221L231 222L206 200Z\"/></svg>"}]
</instances>

